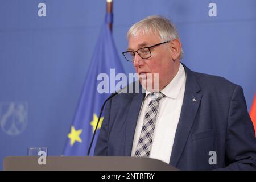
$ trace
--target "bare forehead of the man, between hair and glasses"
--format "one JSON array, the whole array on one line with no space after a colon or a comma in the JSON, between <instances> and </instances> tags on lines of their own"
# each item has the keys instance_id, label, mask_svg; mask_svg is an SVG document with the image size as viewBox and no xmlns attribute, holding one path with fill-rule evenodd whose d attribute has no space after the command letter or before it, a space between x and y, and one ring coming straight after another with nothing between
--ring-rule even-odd
<instances>
[{"instance_id":1,"label":"bare forehead of the man, between hair and glasses","mask_svg":"<svg viewBox=\"0 0 256 182\"><path fill-rule=\"evenodd\" d=\"M144 46L152 46L152 44L156 44L160 42L160 37L158 34L148 33L143 34L140 33L137 36L131 36L128 39L128 48L129 50L135 50Z\"/></svg>"}]
</instances>

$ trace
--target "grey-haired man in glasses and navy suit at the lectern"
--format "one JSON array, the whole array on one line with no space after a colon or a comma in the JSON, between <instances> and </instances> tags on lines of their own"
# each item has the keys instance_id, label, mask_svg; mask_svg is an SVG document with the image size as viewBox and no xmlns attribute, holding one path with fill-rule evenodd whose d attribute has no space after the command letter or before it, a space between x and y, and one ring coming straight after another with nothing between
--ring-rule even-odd
<instances>
[{"instance_id":1,"label":"grey-haired man in glasses and navy suit at the lectern","mask_svg":"<svg viewBox=\"0 0 256 182\"><path fill-rule=\"evenodd\" d=\"M179 35L166 18L141 20L127 38L123 55L133 61L146 93L108 101L94 154L155 158L183 170L256 169L241 86L181 64Z\"/></svg>"}]
</instances>

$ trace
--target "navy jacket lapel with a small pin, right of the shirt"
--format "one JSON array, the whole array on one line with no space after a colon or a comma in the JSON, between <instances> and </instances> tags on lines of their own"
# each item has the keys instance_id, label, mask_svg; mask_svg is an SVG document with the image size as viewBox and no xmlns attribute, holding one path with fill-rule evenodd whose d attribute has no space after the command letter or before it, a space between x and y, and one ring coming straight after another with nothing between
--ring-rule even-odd
<instances>
[{"instance_id":1,"label":"navy jacket lapel with a small pin, right of the shirt","mask_svg":"<svg viewBox=\"0 0 256 182\"><path fill-rule=\"evenodd\" d=\"M202 93L193 72L183 64L187 75L183 105L180 113L179 123L172 147L170 164L176 166L187 142L197 110L199 109Z\"/></svg>"}]
</instances>

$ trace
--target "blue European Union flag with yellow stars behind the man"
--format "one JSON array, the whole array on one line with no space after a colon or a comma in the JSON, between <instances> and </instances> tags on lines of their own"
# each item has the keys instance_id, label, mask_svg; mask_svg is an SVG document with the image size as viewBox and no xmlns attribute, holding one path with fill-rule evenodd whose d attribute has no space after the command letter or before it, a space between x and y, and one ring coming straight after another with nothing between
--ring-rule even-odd
<instances>
[{"instance_id":1,"label":"blue European Union flag with yellow stars behind the man","mask_svg":"<svg viewBox=\"0 0 256 182\"><path fill-rule=\"evenodd\" d=\"M104 73L104 75L110 78L110 69L112 69L112 75L113 69L115 74L124 73L108 26L108 23L112 22L112 19L113 15L107 13L89 65L75 117L67 135L68 138L65 144L64 155L84 156L87 154L101 106L106 98L110 96L110 92L115 91L112 86L112 90L109 90L109 93L99 93L97 87L102 80L97 80L98 75ZM109 88L111 88L111 86ZM103 119L104 113L100 119L98 129L100 129ZM93 154L96 144L98 129L92 152L90 152L91 154Z\"/></svg>"}]
</instances>

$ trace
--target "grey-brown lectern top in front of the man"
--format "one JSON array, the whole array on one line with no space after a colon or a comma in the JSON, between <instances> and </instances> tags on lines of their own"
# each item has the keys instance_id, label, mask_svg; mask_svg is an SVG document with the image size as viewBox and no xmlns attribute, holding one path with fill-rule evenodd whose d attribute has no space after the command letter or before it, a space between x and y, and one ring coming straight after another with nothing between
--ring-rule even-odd
<instances>
[{"instance_id":1,"label":"grey-brown lectern top in front of the man","mask_svg":"<svg viewBox=\"0 0 256 182\"><path fill-rule=\"evenodd\" d=\"M176 171L160 160L127 156L47 156L46 164L39 156L9 156L3 160L3 170L9 171Z\"/></svg>"}]
</instances>

